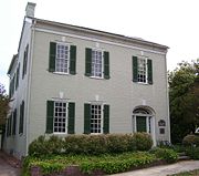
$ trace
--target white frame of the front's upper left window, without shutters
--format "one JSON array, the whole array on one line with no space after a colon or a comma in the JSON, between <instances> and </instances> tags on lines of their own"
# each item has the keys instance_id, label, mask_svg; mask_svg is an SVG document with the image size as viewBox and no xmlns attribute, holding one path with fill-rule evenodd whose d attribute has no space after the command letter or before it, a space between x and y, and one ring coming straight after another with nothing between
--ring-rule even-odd
<instances>
[{"instance_id":1,"label":"white frame of the front's upper left window, without shutters","mask_svg":"<svg viewBox=\"0 0 199 176\"><path fill-rule=\"evenodd\" d=\"M64 46L67 46L67 68L65 68L66 69L66 72L65 71L63 71L63 72L61 72L61 71L57 71L57 60L61 60L61 59L57 59L57 53L59 53L59 45L64 45ZM70 58L70 51L71 51L71 46L70 46L70 44L69 43L62 43L62 42L56 42L56 55L55 55L55 72L54 73L57 73L57 74L69 74L70 73L70 60L71 60L71 58ZM66 59L65 59L66 60ZM63 63L62 63L63 64ZM60 68L59 68L59 70L60 70ZM64 70L63 68L62 68L62 70Z\"/></svg>"}]
</instances>

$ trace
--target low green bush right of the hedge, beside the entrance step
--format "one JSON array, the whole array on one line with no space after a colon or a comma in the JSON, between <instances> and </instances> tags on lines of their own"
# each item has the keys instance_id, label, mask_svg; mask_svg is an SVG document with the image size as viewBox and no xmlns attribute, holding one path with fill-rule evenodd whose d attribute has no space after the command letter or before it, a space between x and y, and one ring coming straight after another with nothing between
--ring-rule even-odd
<instances>
[{"instance_id":1,"label":"low green bush right of the hedge, beside the entrance step","mask_svg":"<svg viewBox=\"0 0 199 176\"><path fill-rule=\"evenodd\" d=\"M167 163L175 163L178 159L178 154L174 149L155 147L150 151L157 158L164 159Z\"/></svg>"}]
</instances>

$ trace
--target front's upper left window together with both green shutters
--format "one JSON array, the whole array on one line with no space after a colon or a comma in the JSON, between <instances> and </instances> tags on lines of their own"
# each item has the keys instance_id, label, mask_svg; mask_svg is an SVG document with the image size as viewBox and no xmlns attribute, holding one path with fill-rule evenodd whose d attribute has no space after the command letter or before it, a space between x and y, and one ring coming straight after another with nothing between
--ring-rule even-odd
<instances>
[{"instance_id":1,"label":"front's upper left window together with both green shutters","mask_svg":"<svg viewBox=\"0 0 199 176\"><path fill-rule=\"evenodd\" d=\"M66 43L50 43L49 71L76 74L76 46Z\"/></svg>"}]
</instances>

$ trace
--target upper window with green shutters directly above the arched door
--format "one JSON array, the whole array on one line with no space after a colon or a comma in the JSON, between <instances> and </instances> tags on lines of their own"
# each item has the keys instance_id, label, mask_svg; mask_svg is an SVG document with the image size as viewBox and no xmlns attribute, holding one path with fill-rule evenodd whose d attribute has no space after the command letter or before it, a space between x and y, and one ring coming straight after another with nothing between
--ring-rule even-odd
<instances>
[{"instance_id":1,"label":"upper window with green shutters directly above the arched door","mask_svg":"<svg viewBox=\"0 0 199 176\"><path fill-rule=\"evenodd\" d=\"M153 61L146 58L133 56L133 81L153 84Z\"/></svg>"}]
</instances>

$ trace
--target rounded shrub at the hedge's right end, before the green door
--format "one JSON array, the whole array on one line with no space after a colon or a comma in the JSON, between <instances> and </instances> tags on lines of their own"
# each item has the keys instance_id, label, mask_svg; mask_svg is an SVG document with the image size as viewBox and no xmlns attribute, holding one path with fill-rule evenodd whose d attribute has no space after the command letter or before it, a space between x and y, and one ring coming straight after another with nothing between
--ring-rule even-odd
<instances>
[{"instance_id":1,"label":"rounded shrub at the hedge's right end, before the green door","mask_svg":"<svg viewBox=\"0 0 199 176\"><path fill-rule=\"evenodd\" d=\"M135 133L134 137L137 151L149 151L151 148L153 139L148 133Z\"/></svg>"}]
</instances>

